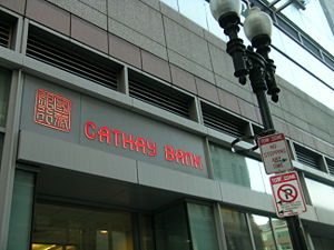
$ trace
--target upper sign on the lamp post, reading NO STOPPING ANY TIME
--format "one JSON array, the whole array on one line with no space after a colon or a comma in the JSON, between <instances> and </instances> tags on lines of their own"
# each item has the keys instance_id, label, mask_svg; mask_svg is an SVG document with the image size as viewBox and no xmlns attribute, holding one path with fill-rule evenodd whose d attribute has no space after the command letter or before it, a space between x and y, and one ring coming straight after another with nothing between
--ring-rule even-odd
<instances>
[{"instance_id":1,"label":"upper sign on the lamp post, reading NO STOPPING ANY TIME","mask_svg":"<svg viewBox=\"0 0 334 250\"><path fill-rule=\"evenodd\" d=\"M284 133L259 138L258 147L266 173L277 173L293 169Z\"/></svg>"}]
</instances>

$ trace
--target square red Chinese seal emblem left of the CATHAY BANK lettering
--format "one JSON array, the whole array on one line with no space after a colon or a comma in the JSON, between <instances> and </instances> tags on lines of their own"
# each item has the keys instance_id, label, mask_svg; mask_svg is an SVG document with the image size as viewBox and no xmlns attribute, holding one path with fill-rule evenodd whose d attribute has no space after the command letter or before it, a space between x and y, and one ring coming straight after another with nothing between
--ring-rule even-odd
<instances>
[{"instance_id":1,"label":"square red Chinese seal emblem left of the CATHAY BANK lettering","mask_svg":"<svg viewBox=\"0 0 334 250\"><path fill-rule=\"evenodd\" d=\"M53 92L36 91L35 121L65 132L71 130L71 100Z\"/></svg>"}]
</instances>

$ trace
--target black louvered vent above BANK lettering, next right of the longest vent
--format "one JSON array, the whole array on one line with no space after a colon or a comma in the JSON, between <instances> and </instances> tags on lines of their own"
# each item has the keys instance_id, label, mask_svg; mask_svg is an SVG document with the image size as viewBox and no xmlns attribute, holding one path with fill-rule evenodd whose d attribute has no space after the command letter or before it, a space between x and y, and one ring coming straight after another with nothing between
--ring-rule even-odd
<instances>
[{"instance_id":1,"label":"black louvered vent above BANK lettering, next right of the longest vent","mask_svg":"<svg viewBox=\"0 0 334 250\"><path fill-rule=\"evenodd\" d=\"M189 118L189 108L194 101L190 96L137 72L129 73L129 93L130 97L185 118Z\"/></svg>"}]
</instances>

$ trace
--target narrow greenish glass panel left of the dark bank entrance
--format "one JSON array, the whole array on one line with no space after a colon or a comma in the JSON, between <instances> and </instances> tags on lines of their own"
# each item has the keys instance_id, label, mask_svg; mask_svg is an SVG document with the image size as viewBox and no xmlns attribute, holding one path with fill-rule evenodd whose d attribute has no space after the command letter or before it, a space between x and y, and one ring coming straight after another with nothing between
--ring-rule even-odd
<instances>
[{"instance_id":1,"label":"narrow greenish glass panel left of the dark bank entrance","mask_svg":"<svg viewBox=\"0 0 334 250\"><path fill-rule=\"evenodd\" d=\"M14 177L8 250L30 249L35 174L18 170Z\"/></svg>"}]
</instances>

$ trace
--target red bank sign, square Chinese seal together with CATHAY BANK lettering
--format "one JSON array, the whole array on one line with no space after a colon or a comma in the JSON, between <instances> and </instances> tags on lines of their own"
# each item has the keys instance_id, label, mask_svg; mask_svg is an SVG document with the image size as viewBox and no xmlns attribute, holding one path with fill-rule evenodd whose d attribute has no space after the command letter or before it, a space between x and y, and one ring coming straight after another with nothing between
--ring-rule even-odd
<instances>
[{"instance_id":1,"label":"red bank sign, square Chinese seal together with CATHAY BANK lettering","mask_svg":"<svg viewBox=\"0 0 334 250\"><path fill-rule=\"evenodd\" d=\"M36 91L35 122L65 132L71 130L71 100L48 90ZM84 133L88 140L99 141L110 147L122 148L147 157L157 157L161 151L169 162L205 169L202 156L171 144L158 144L138 134L130 134L108 126L99 126L95 121L84 121ZM161 143L161 142L160 142ZM160 154L161 156L161 154Z\"/></svg>"}]
</instances>

